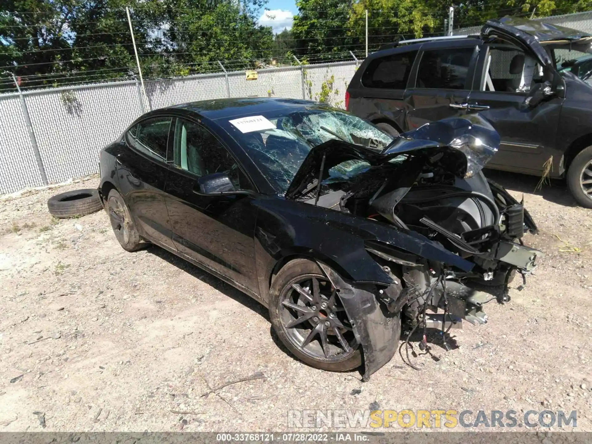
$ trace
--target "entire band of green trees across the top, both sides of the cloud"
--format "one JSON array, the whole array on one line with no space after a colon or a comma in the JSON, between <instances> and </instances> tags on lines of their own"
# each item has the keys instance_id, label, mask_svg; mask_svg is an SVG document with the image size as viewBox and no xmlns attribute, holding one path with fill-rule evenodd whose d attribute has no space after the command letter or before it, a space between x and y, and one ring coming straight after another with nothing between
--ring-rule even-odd
<instances>
[{"instance_id":1,"label":"entire band of green trees across the top, both sides of the cloud","mask_svg":"<svg viewBox=\"0 0 592 444\"><path fill-rule=\"evenodd\" d=\"M442 34L448 0L297 0L291 30L274 36L257 18L266 0L3 0L0 75L22 86L137 75L127 22L147 78L265 66L271 59L350 59L400 38ZM455 28L505 15L545 17L592 9L592 0L456 0ZM0 89L14 88L6 74Z\"/></svg>"}]
</instances>

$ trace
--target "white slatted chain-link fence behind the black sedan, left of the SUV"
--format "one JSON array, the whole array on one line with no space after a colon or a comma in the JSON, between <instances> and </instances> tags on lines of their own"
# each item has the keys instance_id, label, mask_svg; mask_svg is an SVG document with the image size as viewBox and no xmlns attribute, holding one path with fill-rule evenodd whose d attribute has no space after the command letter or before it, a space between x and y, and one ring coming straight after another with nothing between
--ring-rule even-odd
<instances>
[{"instance_id":1,"label":"white slatted chain-link fence behind the black sedan, left of the SUV","mask_svg":"<svg viewBox=\"0 0 592 444\"><path fill-rule=\"evenodd\" d=\"M244 71L149 81L145 99L136 81L0 94L0 194L98 172L102 147L149 110L226 97L323 98L343 107L357 65L262 69L253 81Z\"/></svg>"}]
</instances>

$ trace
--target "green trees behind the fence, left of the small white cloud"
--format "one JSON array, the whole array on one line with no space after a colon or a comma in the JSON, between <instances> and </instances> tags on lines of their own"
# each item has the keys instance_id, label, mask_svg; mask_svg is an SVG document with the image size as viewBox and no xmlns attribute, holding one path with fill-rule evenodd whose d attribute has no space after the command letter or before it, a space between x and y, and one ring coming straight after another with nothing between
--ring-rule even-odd
<instances>
[{"instance_id":1,"label":"green trees behind the fence, left of the small white cloud","mask_svg":"<svg viewBox=\"0 0 592 444\"><path fill-rule=\"evenodd\" d=\"M4 0L0 72L15 73L22 86L137 75L126 6L144 76L217 71L217 60L253 66L272 57L271 28L256 22L261 0Z\"/></svg>"}]
</instances>

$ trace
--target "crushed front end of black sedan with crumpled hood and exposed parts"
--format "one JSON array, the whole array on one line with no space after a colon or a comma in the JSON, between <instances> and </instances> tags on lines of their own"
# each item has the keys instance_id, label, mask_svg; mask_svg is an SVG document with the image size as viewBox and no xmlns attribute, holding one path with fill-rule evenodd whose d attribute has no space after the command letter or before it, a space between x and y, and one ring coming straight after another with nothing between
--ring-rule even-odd
<instances>
[{"instance_id":1,"label":"crushed front end of black sedan with crumpled hood and exposed parts","mask_svg":"<svg viewBox=\"0 0 592 444\"><path fill-rule=\"evenodd\" d=\"M481 171L499 145L493 127L469 115L426 124L386 145L335 135L308 153L285 196L416 231L474 263L464 272L368 243L366 250L394 281L381 290L382 301L392 312L403 310L411 326L425 329L428 309L443 310L432 316L442 332L462 318L487 322L481 307L491 298L465 284L503 285L498 300L507 301L516 272L526 279L542 256L521 240L537 231L523 204Z\"/></svg>"}]
</instances>

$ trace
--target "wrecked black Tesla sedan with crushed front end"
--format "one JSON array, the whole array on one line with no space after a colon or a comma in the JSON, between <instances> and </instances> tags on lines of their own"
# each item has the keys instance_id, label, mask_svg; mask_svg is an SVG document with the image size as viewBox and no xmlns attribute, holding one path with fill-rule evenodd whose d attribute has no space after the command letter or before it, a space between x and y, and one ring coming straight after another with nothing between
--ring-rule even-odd
<instances>
[{"instance_id":1,"label":"wrecked black Tesla sedan with crushed front end","mask_svg":"<svg viewBox=\"0 0 592 444\"><path fill-rule=\"evenodd\" d=\"M302 361L346 371L363 355L368 378L401 317L484 323L460 282L535 266L520 238L536 226L481 173L498 144L478 115L394 138L308 101L194 102L105 147L99 193L124 249L150 242L204 268L266 305Z\"/></svg>"}]
</instances>

